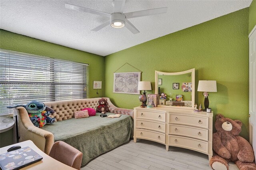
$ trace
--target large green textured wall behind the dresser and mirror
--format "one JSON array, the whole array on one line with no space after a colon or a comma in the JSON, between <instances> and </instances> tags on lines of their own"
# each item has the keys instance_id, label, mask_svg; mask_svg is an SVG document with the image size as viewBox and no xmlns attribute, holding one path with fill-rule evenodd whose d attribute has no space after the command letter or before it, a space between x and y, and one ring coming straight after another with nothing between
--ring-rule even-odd
<instances>
[{"instance_id":1,"label":"large green textured wall behind the dresser and mirror","mask_svg":"<svg viewBox=\"0 0 256 170\"><path fill-rule=\"evenodd\" d=\"M106 56L105 96L118 107L140 106L138 95L112 92L113 72L126 62L140 69L141 80L151 81L153 88L155 70L195 68L196 89L198 80L217 81L218 92L209 93L214 120L217 113L241 120L240 135L248 140L248 20L249 8L244 8ZM138 70L129 65L118 70L124 71ZM196 91L195 99L203 104L202 92Z\"/></svg>"}]
</instances>

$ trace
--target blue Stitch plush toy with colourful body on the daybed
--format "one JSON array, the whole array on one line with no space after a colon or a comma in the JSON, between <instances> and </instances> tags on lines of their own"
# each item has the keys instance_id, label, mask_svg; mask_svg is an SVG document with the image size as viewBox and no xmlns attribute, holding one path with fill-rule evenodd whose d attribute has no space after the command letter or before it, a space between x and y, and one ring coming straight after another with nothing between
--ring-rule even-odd
<instances>
[{"instance_id":1,"label":"blue Stitch plush toy with colourful body on the daybed","mask_svg":"<svg viewBox=\"0 0 256 170\"><path fill-rule=\"evenodd\" d=\"M30 120L36 127L44 127L46 123L52 124L55 122L55 118L49 117L50 114L54 113L54 110L44 105L42 102L31 101L26 105L12 105L8 106L7 108L14 107L25 107Z\"/></svg>"}]
</instances>

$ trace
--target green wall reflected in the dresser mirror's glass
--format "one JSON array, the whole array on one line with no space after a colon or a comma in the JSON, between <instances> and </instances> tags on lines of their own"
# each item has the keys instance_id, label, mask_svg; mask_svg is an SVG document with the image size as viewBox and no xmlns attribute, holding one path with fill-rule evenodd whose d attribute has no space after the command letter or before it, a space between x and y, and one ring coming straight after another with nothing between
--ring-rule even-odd
<instances>
[{"instance_id":1,"label":"green wall reflected in the dresser mirror's glass","mask_svg":"<svg viewBox=\"0 0 256 170\"><path fill-rule=\"evenodd\" d=\"M184 101L191 101L191 92L182 91L182 83L191 83L191 73L186 73L183 75L158 75L158 79L162 79L162 85L160 87L160 93L165 93L167 95L167 100L170 98L170 93L172 100L176 99L176 95L183 95ZM172 83L179 83L179 89L173 89Z\"/></svg>"}]
</instances>

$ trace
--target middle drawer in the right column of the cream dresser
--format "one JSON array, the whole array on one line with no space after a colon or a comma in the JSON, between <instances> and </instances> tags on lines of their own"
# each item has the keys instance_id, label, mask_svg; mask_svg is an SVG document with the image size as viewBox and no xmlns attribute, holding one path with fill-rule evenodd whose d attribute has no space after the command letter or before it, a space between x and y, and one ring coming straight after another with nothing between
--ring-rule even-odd
<instances>
[{"instance_id":1,"label":"middle drawer in the right column of the cream dresser","mask_svg":"<svg viewBox=\"0 0 256 170\"><path fill-rule=\"evenodd\" d=\"M208 129L188 127L183 125L169 125L169 134L187 136L200 140L208 140Z\"/></svg>"}]
</instances>

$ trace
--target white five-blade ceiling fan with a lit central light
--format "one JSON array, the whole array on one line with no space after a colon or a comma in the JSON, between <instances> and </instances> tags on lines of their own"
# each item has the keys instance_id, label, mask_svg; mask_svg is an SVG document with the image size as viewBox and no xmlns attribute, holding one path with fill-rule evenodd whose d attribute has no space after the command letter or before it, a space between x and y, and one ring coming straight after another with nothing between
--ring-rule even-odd
<instances>
[{"instance_id":1,"label":"white five-blade ceiling fan with a lit central light","mask_svg":"<svg viewBox=\"0 0 256 170\"><path fill-rule=\"evenodd\" d=\"M113 28L122 28L125 26L133 34L139 33L139 30L137 30L137 28L134 25L132 25L132 23L127 19L141 17L141 16L163 14L163 13L167 12L167 7L164 7L164 8L155 8L155 9L150 9L150 10L123 13L125 0L114 0L113 2L114 2L114 4L113 3L112 4L114 5L114 12L112 14L108 14L106 12L100 12L100 11L96 11L96 10L91 10L89 8L84 8L81 6L75 6L75 5L71 5L71 4L65 4L65 7L68 9L71 9L71 10L88 12L91 14L96 14L96 15L105 16L105 17L109 18L108 21L106 21L103 24L99 25L98 27L92 29L92 31L96 32L96 31L101 30L102 28L108 26L108 24L110 24Z\"/></svg>"}]
</instances>

